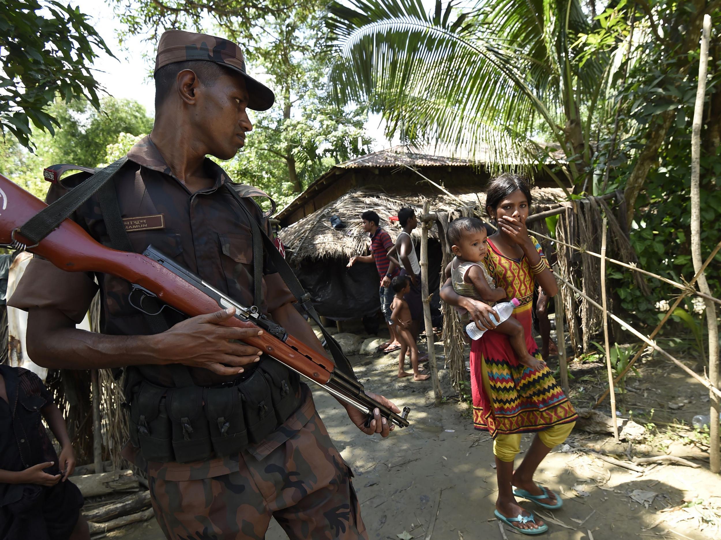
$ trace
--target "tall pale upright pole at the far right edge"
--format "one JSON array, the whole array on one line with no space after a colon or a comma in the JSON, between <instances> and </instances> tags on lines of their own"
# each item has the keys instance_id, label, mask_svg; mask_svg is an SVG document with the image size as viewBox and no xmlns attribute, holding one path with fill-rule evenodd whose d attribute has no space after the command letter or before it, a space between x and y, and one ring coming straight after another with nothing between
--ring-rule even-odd
<instances>
[{"instance_id":1,"label":"tall pale upright pole at the far right edge","mask_svg":"<svg viewBox=\"0 0 721 540\"><path fill-rule=\"evenodd\" d=\"M706 94L706 71L709 64L709 38L711 36L711 16L704 15L704 26L701 34L701 55L699 56L699 86L696 89L694 105L694 123L691 131L691 258L694 270L701 268L701 196L699 187L701 159L701 125L704 116L704 96ZM711 294L711 289L702 272L699 276L699 291ZM709 330L709 382L718 384L719 374L719 336L716 320L716 308L708 299L706 304L706 324ZM709 464L711 472L721 472L721 448L719 446L719 400L711 397L711 440L709 442Z\"/></svg>"}]
</instances>

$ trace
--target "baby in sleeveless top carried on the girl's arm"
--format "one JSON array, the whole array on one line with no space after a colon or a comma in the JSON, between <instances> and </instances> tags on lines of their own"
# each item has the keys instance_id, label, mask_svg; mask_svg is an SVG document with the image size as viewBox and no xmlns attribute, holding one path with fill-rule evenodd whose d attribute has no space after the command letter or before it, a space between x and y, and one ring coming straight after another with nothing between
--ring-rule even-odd
<instances>
[{"instance_id":1,"label":"baby in sleeveless top carried on the girl's arm","mask_svg":"<svg viewBox=\"0 0 721 540\"><path fill-rule=\"evenodd\" d=\"M456 258L451 261L451 282L454 291L461 296L481 300L492 306L506 297L505 290L496 287L488 274L483 258L488 252L487 232L477 217L459 217L448 226L448 243ZM461 320L469 322L467 314ZM528 353L523 325L513 317L496 326L496 330L508 336L516 359L531 369L542 369L544 363Z\"/></svg>"}]
</instances>

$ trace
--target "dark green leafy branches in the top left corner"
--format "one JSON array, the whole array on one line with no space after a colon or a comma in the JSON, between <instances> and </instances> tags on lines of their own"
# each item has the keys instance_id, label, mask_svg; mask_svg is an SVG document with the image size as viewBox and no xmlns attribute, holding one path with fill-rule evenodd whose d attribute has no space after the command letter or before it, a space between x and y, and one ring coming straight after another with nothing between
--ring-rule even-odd
<instances>
[{"instance_id":1,"label":"dark green leafy branches in the top left corner","mask_svg":"<svg viewBox=\"0 0 721 540\"><path fill-rule=\"evenodd\" d=\"M59 95L99 107L90 67L96 50L112 56L80 9L57 1L0 0L0 131L31 148L32 126L54 132L45 107Z\"/></svg>"}]
</instances>

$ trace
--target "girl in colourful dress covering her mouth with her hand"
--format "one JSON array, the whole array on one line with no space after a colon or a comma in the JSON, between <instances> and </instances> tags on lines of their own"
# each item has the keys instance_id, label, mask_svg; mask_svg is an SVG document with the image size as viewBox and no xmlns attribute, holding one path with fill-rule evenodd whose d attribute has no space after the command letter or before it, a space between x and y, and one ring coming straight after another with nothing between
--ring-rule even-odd
<instances>
[{"instance_id":1,"label":"girl in colourful dress covering her mouth with her hand","mask_svg":"<svg viewBox=\"0 0 721 540\"><path fill-rule=\"evenodd\" d=\"M487 239L485 266L496 286L521 302L513 317L523 325L528 353L540 359L531 333L534 287L542 287L549 296L554 296L558 287L541 246L526 228L531 190L521 177L504 174L488 186L486 204L498 230ZM477 323L495 327L487 317L492 308L456 294L450 279L441 289L441 298L468 310ZM562 506L559 496L537 485L533 477L544 457L565 441L572 430L577 418L575 410L548 367L536 370L520 364L508 336L494 330L472 343L471 389L474 427L488 431L493 438L498 480L495 516L522 534L544 533L548 526L523 510L514 495L549 510ZM522 433L536 436L514 472Z\"/></svg>"}]
</instances>

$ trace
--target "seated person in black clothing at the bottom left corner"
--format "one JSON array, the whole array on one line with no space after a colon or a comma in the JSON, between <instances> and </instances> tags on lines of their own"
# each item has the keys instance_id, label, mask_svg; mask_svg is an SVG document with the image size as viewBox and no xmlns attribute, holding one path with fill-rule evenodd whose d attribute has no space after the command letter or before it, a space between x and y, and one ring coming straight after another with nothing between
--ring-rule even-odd
<instances>
[{"instance_id":1,"label":"seated person in black clothing at the bottom left corner","mask_svg":"<svg viewBox=\"0 0 721 540\"><path fill-rule=\"evenodd\" d=\"M58 458L40 422L62 450ZM36 374L0 365L0 538L89 540L75 454L63 415Z\"/></svg>"}]
</instances>

